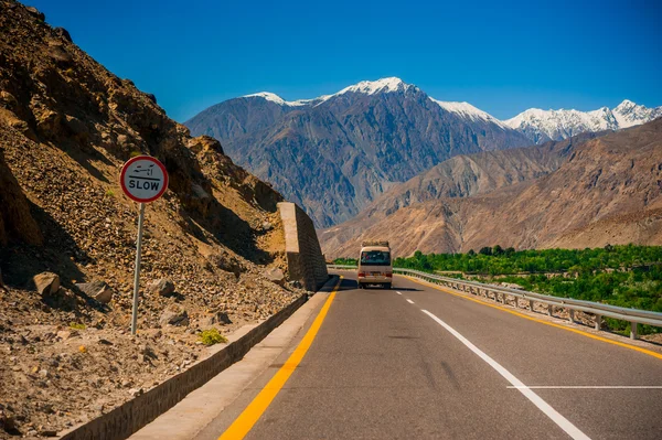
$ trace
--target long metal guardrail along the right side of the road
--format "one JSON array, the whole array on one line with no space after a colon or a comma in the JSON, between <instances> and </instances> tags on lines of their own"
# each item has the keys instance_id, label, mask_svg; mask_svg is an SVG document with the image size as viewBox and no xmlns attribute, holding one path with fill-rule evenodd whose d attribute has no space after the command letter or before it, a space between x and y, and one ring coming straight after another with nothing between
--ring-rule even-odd
<instances>
[{"instance_id":1,"label":"long metal guardrail along the right side of the road","mask_svg":"<svg viewBox=\"0 0 662 440\"><path fill-rule=\"evenodd\" d=\"M328 265L329 269L356 269L356 266ZM602 326L602 316L630 322L630 339L636 340L637 324L648 324L662 328L662 313L647 310L628 309L623 307L601 304L599 302L575 300L572 298L552 297L548 294L528 292L526 290L511 289L500 286L484 285L482 282L459 280L456 278L441 277L434 273L421 272L413 269L393 268L395 273L407 275L424 279L429 282L442 285L451 289L469 292L476 296L484 296L488 299L506 304L508 297L514 300L514 307L520 308L520 300L528 302L528 309L535 312L534 304L542 303L547 305L547 314L552 315L554 308L566 309L568 311L568 321L575 322L575 312L580 311L595 316L594 326L600 330Z\"/></svg>"}]
</instances>

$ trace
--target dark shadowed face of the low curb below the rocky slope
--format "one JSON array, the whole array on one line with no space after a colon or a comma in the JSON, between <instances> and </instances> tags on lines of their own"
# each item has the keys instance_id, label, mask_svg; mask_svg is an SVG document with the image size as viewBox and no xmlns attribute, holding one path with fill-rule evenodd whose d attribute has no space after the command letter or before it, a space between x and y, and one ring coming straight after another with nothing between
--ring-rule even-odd
<instances>
[{"instance_id":1,"label":"dark shadowed face of the low curb below the rocky slope","mask_svg":"<svg viewBox=\"0 0 662 440\"><path fill-rule=\"evenodd\" d=\"M331 281L334 281L334 278L330 278L327 285ZM308 301L308 293L303 293L285 309L248 331L248 333L237 341L229 343L223 350L200 361L185 372L169 378L143 395L124 403L110 412L66 431L61 439L121 440L128 438L175 406L189 393L201 387L235 362L241 361L254 345L264 340L274 329Z\"/></svg>"}]
</instances>

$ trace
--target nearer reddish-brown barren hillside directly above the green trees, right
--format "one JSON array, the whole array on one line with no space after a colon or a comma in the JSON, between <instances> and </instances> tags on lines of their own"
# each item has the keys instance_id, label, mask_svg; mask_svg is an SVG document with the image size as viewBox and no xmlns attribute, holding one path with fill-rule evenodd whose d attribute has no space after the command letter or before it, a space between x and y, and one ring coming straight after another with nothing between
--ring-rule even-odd
<instances>
[{"instance_id":1,"label":"nearer reddish-brown barren hillside directly above the green trees, right","mask_svg":"<svg viewBox=\"0 0 662 440\"><path fill-rule=\"evenodd\" d=\"M353 229L322 235L328 257L353 256L362 239L389 239L397 254L501 245L583 248L662 245L662 120L576 147L556 171L466 198L412 204ZM337 226L343 230L344 225Z\"/></svg>"}]
</instances>

